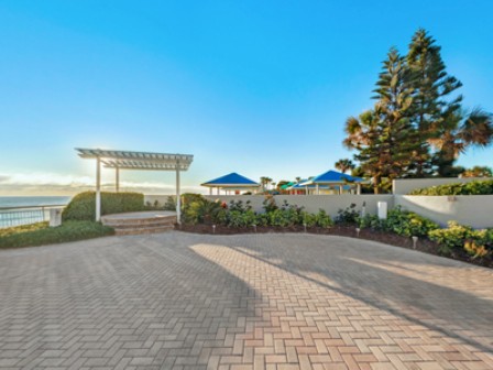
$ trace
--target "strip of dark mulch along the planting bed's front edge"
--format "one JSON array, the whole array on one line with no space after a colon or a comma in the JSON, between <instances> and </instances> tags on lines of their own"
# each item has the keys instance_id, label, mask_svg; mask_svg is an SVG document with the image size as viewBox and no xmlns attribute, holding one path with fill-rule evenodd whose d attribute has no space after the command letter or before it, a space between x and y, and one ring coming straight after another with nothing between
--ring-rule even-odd
<instances>
[{"instance_id":1,"label":"strip of dark mulch along the planting bed's front edge","mask_svg":"<svg viewBox=\"0 0 493 370\"><path fill-rule=\"evenodd\" d=\"M176 230L186 231L186 232L194 232L194 233L208 233L208 235L238 235L238 233L273 233L273 232L308 232L308 233L317 233L317 235L332 235L332 236L340 236L340 237L349 237L349 238L359 238L359 239L365 239L365 240L372 240L382 242L385 244L394 246L394 247L401 247L401 248L407 248L407 249L414 249L413 248L413 240L410 238L401 237L395 233L391 232L384 232L384 231L375 231L371 229L362 229L360 231L360 235L357 235L357 230L353 226L335 226L328 229L319 228L319 227L311 227L311 228L305 228L303 226L293 226L293 227L263 227L258 226L256 228L234 228L234 227L227 227L222 225L216 225L213 228L212 225L175 225ZM459 260L468 263L472 263L475 265L480 265L483 268L490 268L493 269L493 257L491 254L486 255L485 258L476 258L472 259L470 255L465 253L465 251L457 250L453 251L451 255L441 255L439 251L439 247L437 243L428 240L419 238L416 249L417 251L440 255L445 258L449 258L452 260Z\"/></svg>"}]
</instances>

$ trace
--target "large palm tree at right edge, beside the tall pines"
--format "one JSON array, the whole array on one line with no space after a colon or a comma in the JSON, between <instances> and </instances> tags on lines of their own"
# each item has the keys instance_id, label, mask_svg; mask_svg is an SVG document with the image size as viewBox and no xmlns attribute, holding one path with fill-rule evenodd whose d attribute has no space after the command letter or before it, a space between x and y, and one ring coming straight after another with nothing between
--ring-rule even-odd
<instances>
[{"instance_id":1,"label":"large palm tree at right edge, beside the tall pines","mask_svg":"<svg viewBox=\"0 0 493 370\"><path fill-rule=\"evenodd\" d=\"M440 176L454 175L453 162L470 146L486 148L493 143L493 116L481 108L470 112L452 111L445 117L440 134L430 140L437 150L435 164Z\"/></svg>"}]
</instances>

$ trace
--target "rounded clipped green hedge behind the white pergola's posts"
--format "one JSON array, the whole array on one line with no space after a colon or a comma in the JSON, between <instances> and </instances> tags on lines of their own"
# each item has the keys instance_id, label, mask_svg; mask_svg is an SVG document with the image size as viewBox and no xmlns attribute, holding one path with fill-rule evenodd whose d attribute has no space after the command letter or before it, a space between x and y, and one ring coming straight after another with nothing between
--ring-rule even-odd
<instances>
[{"instance_id":1,"label":"rounded clipped green hedge behind the white pergola's posts","mask_svg":"<svg viewBox=\"0 0 493 370\"><path fill-rule=\"evenodd\" d=\"M144 195L141 193L101 193L101 215L144 210ZM77 194L64 209L63 221L96 218L96 193Z\"/></svg>"}]
</instances>

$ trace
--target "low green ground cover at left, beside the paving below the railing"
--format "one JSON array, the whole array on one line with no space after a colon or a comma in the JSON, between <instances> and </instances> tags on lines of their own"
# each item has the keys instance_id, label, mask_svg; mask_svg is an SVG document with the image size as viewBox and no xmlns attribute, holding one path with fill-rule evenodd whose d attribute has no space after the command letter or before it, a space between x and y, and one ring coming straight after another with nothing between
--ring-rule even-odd
<instances>
[{"instance_id":1,"label":"low green ground cover at left, beside the paving below the railing","mask_svg":"<svg viewBox=\"0 0 493 370\"><path fill-rule=\"evenodd\" d=\"M113 235L114 230L94 221L66 221L58 227L47 222L0 229L0 248L54 244Z\"/></svg>"}]
</instances>

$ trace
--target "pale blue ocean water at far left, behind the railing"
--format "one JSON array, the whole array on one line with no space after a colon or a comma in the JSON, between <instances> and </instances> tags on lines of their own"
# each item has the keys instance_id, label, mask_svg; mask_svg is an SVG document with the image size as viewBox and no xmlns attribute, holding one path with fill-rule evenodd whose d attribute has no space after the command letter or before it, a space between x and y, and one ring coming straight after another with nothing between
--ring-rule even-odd
<instances>
[{"instance_id":1,"label":"pale blue ocean water at far left, behind the railing","mask_svg":"<svg viewBox=\"0 0 493 370\"><path fill-rule=\"evenodd\" d=\"M0 228L47 221L50 209L42 206L65 206L70 198L69 196L0 196Z\"/></svg>"}]
</instances>

